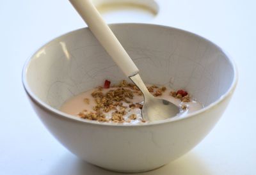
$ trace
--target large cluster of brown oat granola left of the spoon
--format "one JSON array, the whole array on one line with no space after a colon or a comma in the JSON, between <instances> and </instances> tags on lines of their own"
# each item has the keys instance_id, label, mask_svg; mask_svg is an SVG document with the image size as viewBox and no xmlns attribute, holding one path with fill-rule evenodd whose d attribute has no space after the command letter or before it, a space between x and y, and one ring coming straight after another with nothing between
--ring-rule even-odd
<instances>
[{"instance_id":1,"label":"large cluster of brown oat granola left of the spoon","mask_svg":"<svg viewBox=\"0 0 256 175\"><path fill-rule=\"evenodd\" d=\"M131 122L132 119L137 119L136 114L131 114L125 121L124 116L129 110L138 108L142 109L143 104L132 103L134 95L141 96L142 93L135 84L128 83L126 80L122 80L119 84L112 86L107 93L102 92L102 87L98 87L93 91L92 96L96 102L93 107L93 112L82 111L78 116L84 119L91 119L97 121L112 121L114 123ZM84 102L88 104L88 99L84 99ZM129 104L129 106L124 105ZM106 118L106 113L111 112L111 118ZM144 122L143 120L141 120Z\"/></svg>"}]
</instances>

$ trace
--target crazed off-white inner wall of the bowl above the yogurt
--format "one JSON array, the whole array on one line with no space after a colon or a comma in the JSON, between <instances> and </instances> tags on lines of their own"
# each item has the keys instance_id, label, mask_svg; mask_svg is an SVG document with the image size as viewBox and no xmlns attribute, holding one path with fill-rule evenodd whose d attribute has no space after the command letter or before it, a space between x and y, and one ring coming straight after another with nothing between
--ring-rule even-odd
<instances>
[{"instance_id":1,"label":"crazed off-white inner wall of the bowl above the yogurt","mask_svg":"<svg viewBox=\"0 0 256 175\"><path fill-rule=\"evenodd\" d=\"M227 93L234 65L216 45L195 34L148 24L113 24L111 29L147 83L186 89L204 106ZM87 28L47 43L24 69L27 89L59 109L68 98L105 79L126 79Z\"/></svg>"}]
</instances>

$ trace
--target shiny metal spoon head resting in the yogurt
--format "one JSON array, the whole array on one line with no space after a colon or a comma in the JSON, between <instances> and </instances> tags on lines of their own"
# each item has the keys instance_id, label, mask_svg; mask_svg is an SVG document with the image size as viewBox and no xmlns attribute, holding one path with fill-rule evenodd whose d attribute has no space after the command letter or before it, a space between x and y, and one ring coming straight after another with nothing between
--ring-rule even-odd
<instances>
[{"instance_id":1,"label":"shiny metal spoon head resting in the yogurt","mask_svg":"<svg viewBox=\"0 0 256 175\"><path fill-rule=\"evenodd\" d=\"M142 117L147 121L172 118L179 113L179 107L164 99L154 98L144 103Z\"/></svg>"}]
</instances>

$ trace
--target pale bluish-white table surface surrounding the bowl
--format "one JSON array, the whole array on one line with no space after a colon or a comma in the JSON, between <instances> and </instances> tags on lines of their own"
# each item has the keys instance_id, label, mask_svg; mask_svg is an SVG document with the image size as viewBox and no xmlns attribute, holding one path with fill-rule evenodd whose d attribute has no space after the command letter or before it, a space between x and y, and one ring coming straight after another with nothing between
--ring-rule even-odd
<instances>
[{"instance_id":1,"label":"pale bluish-white table surface surrounding the bowl","mask_svg":"<svg viewBox=\"0 0 256 175\"><path fill-rule=\"evenodd\" d=\"M147 22L200 34L234 58L239 83L225 114L204 141L178 160L141 174L256 174L255 1L157 2L161 6L154 19L105 18L109 23ZM43 43L84 26L67 0L1 1L0 174L118 174L87 164L61 146L33 112L22 88L24 61Z\"/></svg>"}]
</instances>

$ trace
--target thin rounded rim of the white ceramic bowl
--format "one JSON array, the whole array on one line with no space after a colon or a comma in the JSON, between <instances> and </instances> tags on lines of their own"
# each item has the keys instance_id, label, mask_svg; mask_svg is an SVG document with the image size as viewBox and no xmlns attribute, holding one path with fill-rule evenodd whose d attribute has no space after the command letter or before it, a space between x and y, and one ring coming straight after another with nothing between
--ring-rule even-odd
<instances>
[{"instance_id":1,"label":"thin rounded rim of the white ceramic bowl","mask_svg":"<svg viewBox=\"0 0 256 175\"><path fill-rule=\"evenodd\" d=\"M136 125L132 125L132 124L125 125L124 123L107 123L107 122L92 121L92 120L88 120L88 119L81 119L81 118L78 118L77 116L72 116L72 115L67 114L65 112L61 112L60 110L54 109L53 107L51 107L47 103L45 103L42 100L40 100L31 91L31 89L29 88L28 82L27 82L27 78L26 78L28 66L31 63L31 60L33 59L33 57L36 55L36 53L39 50L41 50L42 48L46 47L47 45L49 45L54 40L58 40L59 38L61 38L63 36L67 36L69 34L76 33L77 31L82 31L84 29L89 29L88 27L83 27L83 28L79 28L79 29L76 29L76 30L73 30L73 31L69 31L69 32L67 32L65 34L61 34L60 36L57 36L56 38L50 40L49 42L46 42L44 45L39 47L39 49L37 49L35 52L33 52L33 54L31 54L31 56L28 57L28 59L26 60L26 62L24 63L24 66L22 68L22 84L23 84L23 87L24 87L26 93L28 94L29 98L31 98L31 100L33 102L35 102L37 105L39 105L40 107L44 108L45 110L48 110L49 112L53 112L54 114L56 114L57 116L60 116L63 119L64 118L71 119L72 121L77 121L79 123L92 124L92 125L137 127L137 126L159 125L159 124L163 124L163 123L171 123L171 122L175 122L175 121L180 121L180 120L192 118L194 116L197 116L198 114L202 114L204 112L207 112L207 110L209 110L209 109L212 109L214 106L218 105L223 100L228 98L228 96L232 95L232 93L236 89L237 81L238 81L238 73L237 73L237 66L236 66L236 63L234 62L234 59L232 59L230 54L228 54L225 50L221 49L221 47L216 45L216 43L211 42L207 38L204 38L203 36L200 36L200 35L195 34L195 33L191 33L189 31L185 31L183 29L179 29L179 28L176 28L176 27L170 27L170 26L163 26L163 25L159 25L159 24L115 23L115 24L108 24L108 25L109 25L109 27L112 27L112 26L150 26L150 27L161 27L161 28L165 28L165 29L172 29L172 30L176 30L176 31L181 31L182 33L190 34L190 35L196 36L197 38L205 40L205 41L211 43L212 45L214 45L216 48L220 49L221 52L223 52L223 54L225 54L225 56L228 58L227 61L230 63L230 65L232 66L232 70L234 71L234 78L232 80L232 83L230 84L230 87L228 88L228 90L223 95L221 95L220 98L218 98L218 100L216 100L215 102L212 102L207 107L203 107L200 110L196 110L195 112L191 112L191 113L186 114L186 115L184 115L182 117L179 117L179 118L175 117L175 118L170 118L170 119L164 119L164 120L161 120L161 121L153 121L153 122L141 123L141 124L136 124Z\"/></svg>"}]
</instances>

